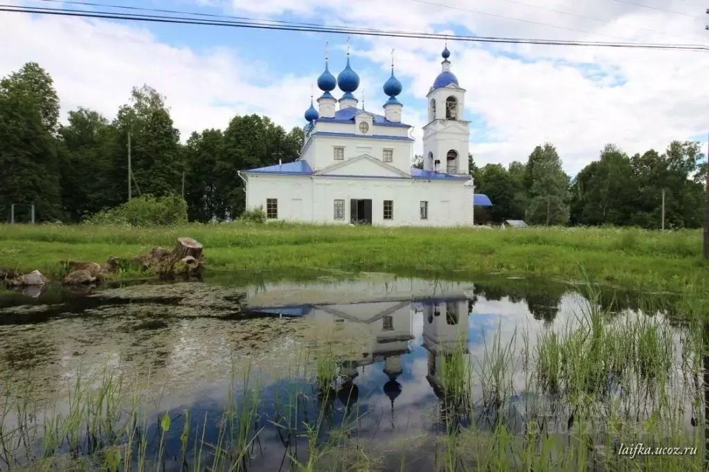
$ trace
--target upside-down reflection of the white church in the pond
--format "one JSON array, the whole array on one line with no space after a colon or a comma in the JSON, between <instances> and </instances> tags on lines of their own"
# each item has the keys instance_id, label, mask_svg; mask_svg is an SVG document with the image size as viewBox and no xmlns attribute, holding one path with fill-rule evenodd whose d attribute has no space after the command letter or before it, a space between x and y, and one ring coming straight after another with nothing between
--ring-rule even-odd
<instances>
[{"instance_id":1,"label":"upside-down reflection of the white church in the pond","mask_svg":"<svg viewBox=\"0 0 709 472\"><path fill-rule=\"evenodd\" d=\"M384 300L365 303L323 304L298 307L264 308L269 313L301 315L317 322L366 326L374 339L368 352L359 354L342 366L348 382L354 381L364 366L384 363L389 380L384 393L394 401L401 395L397 381L403 373L402 357L412 351L415 326L423 324L423 347L428 352L426 380L438 398L442 396L441 368L445 356L453 352L468 352L469 316L474 301L462 293L457 296L406 300ZM361 356L360 356L361 355Z\"/></svg>"}]
</instances>

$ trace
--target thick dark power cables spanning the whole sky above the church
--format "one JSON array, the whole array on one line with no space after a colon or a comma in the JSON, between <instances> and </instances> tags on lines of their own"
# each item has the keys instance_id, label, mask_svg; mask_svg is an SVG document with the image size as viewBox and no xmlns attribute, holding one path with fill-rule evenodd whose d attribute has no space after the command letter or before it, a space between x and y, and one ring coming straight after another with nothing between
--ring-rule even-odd
<instances>
[{"instance_id":1,"label":"thick dark power cables spanning the whole sky above the church","mask_svg":"<svg viewBox=\"0 0 709 472\"><path fill-rule=\"evenodd\" d=\"M264 30L289 30L316 33L334 34L355 34L365 36L380 36L389 38L414 38L414 39L450 39L475 43L508 43L508 44L535 44L535 45L566 45L566 46L587 46L587 47L626 47L639 49L659 49L659 50L686 50L686 51L708 51L709 47L704 45L677 45L677 44L648 44L648 43L605 43L600 41L569 41L569 40L537 40L526 38L506 38L491 36L473 35L443 35L437 33L408 33L391 30L375 30L366 28L347 28L341 26L301 26L296 23L264 24L257 23L257 19L249 18L247 21L216 21L198 20L196 18L186 18L178 16L154 16L137 15L127 13L113 13L107 11L79 11L71 9L48 9L29 6L11 6L0 4L0 11L12 13L35 13L50 16L69 16L79 18L102 18L113 20L146 21L152 23L172 23L199 26L228 26L232 28L255 28Z\"/></svg>"}]
</instances>

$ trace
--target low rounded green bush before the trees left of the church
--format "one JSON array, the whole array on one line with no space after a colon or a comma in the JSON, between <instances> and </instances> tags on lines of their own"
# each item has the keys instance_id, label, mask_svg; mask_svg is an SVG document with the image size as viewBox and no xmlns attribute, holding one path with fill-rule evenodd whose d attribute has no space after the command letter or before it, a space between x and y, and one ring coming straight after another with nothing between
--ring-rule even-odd
<instances>
[{"instance_id":1,"label":"low rounded green bush before the trees left of the church","mask_svg":"<svg viewBox=\"0 0 709 472\"><path fill-rule=\"evenodd\" d=\"M187 223L187 203L179 196L133 198L121 206L100 211L86 223L94 225L159 226Z\"/></svg>"}]
</instances>

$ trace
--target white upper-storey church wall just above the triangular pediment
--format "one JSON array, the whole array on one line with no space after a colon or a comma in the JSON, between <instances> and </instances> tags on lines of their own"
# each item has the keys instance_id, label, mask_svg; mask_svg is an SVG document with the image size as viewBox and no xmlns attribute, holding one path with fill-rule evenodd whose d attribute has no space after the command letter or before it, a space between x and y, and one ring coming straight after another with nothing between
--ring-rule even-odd
<instances>
[{"instance_id":1,"label":"white upper-storey church wall just above the triangular pediment","mask_svg":"<svg viewBox=\"0 0 709 472\"><path fill-rule=\"evenodd\" d=\"M335 147L344 147L345 160L362 154L369 154L375 159L383 160L384 150L392 150L393 162L388 162L388 164L403 172L411 172L411 150L413 149L411 141L378 140L363 137L343 139L342 137L314 136L313 138L315 141L313 143L314 165L311 164L313 170L317 171L342 162L335 160L334 153Z\"/></svg>"}]
</instances>

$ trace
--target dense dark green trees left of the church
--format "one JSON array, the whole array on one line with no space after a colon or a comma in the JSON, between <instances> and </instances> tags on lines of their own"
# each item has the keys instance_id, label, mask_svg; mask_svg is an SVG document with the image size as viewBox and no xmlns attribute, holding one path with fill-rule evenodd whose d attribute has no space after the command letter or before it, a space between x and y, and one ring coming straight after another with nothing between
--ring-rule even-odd
<instances>
[{"instance_id":1,"label":"dense dark green trees left of the church","mask_svg":"<svg viewBox=\"0 0 709 472\"><path fill-rule=\"evenodd\" d=\"M164 96L135 87L116 118L88 108L61 124L50 74L29 62L0 80L0 221L79 222L128 199L128 140L133 196L183 196L189 219L227 220L245 206L237 172L290 162L303 144L267 117L235 116L225 130L180 142Z\"/></svg>"}]
</instances>

